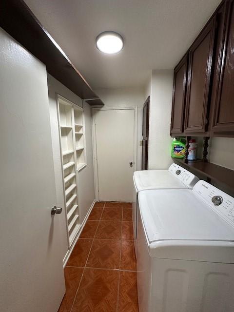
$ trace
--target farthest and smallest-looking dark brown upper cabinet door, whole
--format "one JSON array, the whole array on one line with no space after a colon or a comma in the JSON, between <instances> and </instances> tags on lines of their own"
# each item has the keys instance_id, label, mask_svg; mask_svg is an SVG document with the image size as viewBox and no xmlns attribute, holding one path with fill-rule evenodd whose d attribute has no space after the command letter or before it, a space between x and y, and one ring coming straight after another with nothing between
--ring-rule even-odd
<instances>
[{"instance_id":1,"label":"farthest and smallest-looking dark brown upper cabinet door, whole","mask_svg":"<svg viewBox=\"0 0 234 312\"><path fill-rule=\"evenodd\" d=\"M188 54L186 53L174 69L171 135L179 135L184 131L187 65Z\"/></svg>"}]
</instances>

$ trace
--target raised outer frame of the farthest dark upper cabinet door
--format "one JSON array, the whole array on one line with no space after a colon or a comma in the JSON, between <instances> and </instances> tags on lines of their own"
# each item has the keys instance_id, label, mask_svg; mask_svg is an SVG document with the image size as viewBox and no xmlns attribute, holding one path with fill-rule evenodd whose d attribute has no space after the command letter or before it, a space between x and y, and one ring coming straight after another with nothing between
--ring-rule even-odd
<instances>
[{"instance_id":1,"label":"raised outer frame of the farthest dark upper cabinet door","mask_svg":"<svg viewBox=\"0 0 234 312\"><path fill-rule=\"evenodd\" d=\"M173 128L174 122L174 108L175 108L175 92L176 92L176 74L180 68L185 64L184 81L183 81L183 106L180 120L180 128ZM171 117L171 135L181 135L184 131L184 113L185 113L185 101L186 101L186 90L187 90L187 74L188 74L188 53L183 56L174 69L174 80L173 80L173 96L172 96L172 117Z\"/></svg>"}]
</instances>

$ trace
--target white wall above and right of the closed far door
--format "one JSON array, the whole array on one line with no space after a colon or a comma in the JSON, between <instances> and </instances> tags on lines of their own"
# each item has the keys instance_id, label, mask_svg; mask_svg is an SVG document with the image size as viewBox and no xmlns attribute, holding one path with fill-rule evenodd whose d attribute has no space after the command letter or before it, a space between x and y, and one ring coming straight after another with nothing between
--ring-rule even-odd
<instances>
[{"instance_id":1,"label":"white wall above and right of the closed far door","mask_svg":"<svg viewBox=\"0 0 234 312\"><path fill-rule=\"evenodd\" d=\"M137 170L141 170L142 107L146 100L143 88L95 90L106 107L137 107Z\"/></svg>"}]
</instances>

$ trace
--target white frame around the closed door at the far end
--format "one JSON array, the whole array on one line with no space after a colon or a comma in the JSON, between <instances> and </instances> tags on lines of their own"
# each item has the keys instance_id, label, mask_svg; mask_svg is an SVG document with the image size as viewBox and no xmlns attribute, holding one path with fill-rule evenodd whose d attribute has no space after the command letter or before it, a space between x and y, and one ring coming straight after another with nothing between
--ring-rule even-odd
<instances>
[{"instance_id":1,"label":"white frame around the closed door at the far end","mask_svg":"<svg viewBox=\"0 0 234 312\"><path fill-rule=\"evenodd\" d=\"M94 156L94 189L95 198L99 201L99 186L98 186L98 158L97 158L97 140L96 140L96 125L94 113L97 111L109 110L133 110L134 111L134 163L133 170L137 170L137 107L93 107L92 108L92 143L93 143L93 156Z\"/></svg>"}]
</instances>

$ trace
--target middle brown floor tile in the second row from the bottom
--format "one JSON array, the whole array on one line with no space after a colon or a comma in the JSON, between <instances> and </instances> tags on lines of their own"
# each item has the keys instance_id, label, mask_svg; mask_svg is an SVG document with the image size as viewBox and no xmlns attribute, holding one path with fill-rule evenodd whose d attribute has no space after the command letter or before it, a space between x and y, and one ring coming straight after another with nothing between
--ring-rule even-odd
<instances>
[{"instance_id":1,"label":"middle brown floor tile in the second row from the bottom","mask_svg":"<svg viewBox=\"0 0 234 312\"><path fill-rule=\"evenodd\" d=\"M120 240L95 239L89 254L87 267L119 269Z\"/></svg>"}]
</instances>

